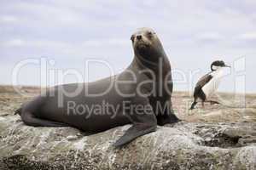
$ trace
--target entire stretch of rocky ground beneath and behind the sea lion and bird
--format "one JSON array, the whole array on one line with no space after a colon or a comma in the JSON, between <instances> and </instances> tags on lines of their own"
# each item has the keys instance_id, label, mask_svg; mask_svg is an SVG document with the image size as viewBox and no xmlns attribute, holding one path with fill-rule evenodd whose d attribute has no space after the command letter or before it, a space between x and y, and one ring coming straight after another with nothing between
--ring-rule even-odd
<instances>
[{"instance_id":1,"label":"entire stretch of rocky ground beneath and behind the sea lion and bird","mask_svg":"<svg viewBox=\"0 0 256 170\"><path fill-rule=\"evenodd\" d=\"M256 95L218 94L222 105L189 111L188 93L173 94L183 122L158 127L121 149L130 127L86 136L72 127L27 127L13 113L38 88L0 86L0 169L256 169Z\"/></svg>"}]
</instances>

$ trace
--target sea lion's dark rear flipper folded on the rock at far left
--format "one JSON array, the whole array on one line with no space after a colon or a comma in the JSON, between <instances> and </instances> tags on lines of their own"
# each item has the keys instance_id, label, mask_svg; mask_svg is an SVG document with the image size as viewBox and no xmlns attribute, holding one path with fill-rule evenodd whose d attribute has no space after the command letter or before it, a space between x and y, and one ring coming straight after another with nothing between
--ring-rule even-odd
<instances>
[{"instance_id":1,"label":"sea lion's dark rear flipper folded on the rock at far left","mask_svg":"<svg viewBox=\"0 0 256 170\"><path fill-rule=\"evenodd\" d=\"M65 123L40 119L33 116L30 112L23 112L21 114L21 119L26 125L33 127L67 127L67 124Z\"/></svg>"}]
</instances>

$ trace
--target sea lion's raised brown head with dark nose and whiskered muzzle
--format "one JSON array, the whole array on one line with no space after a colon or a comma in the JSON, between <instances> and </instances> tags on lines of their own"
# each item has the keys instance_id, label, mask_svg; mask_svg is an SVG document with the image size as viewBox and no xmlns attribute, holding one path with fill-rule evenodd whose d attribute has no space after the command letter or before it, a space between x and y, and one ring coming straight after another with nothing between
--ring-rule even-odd
<instances>
[{"instance_id":1,"label":"sea lion's raised brown head with dark nose and whiskered muzzle","mask_svg":"<svg viewBox=\"0 0 256 170\"><path fill-rule=\"evenodd\" d=\"M160 39L151 28L139 28L131 35L131 42L135 54L143 58L155 58L163 54L164 50Z\"/></svg>"}]
</instances>

